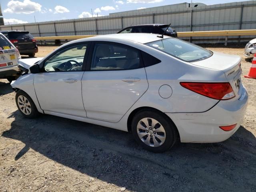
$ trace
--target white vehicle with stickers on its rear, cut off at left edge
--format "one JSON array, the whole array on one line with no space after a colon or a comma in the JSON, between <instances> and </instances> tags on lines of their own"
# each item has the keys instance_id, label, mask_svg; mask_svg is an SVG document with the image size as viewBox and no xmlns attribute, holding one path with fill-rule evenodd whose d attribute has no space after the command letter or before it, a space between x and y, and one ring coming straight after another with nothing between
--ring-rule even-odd
<instances>
[{"instance_id":1,"label":"white vehicle with stickers on its rear, cut off at left edge","mask_svg":"<svg viewBox=\"0 0 256 192\"><path fill-rule=\"evenodd\" d=\"M18 49L0 33L0 79L7 79L9 82L16 80L20 76L19 60Z\"/></svg>"}]
</instances>

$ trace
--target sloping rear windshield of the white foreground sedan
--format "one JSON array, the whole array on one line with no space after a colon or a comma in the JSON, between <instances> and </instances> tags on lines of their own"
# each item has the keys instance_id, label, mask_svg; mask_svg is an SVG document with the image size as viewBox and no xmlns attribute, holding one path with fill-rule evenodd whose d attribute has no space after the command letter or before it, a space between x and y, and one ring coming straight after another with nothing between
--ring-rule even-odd
<instances>
[{"instance_id":1,"label":"sloping rear windshield of the white foreground sedan","mask_svg":"<svg viewBox=\"0 0 256 192\"><path fill-rule=\"evenodd\" d=\"M162 39L146 45L187 62L200 61L212 56L211 51L176 38Z\"/></svg>"}]
</instances>

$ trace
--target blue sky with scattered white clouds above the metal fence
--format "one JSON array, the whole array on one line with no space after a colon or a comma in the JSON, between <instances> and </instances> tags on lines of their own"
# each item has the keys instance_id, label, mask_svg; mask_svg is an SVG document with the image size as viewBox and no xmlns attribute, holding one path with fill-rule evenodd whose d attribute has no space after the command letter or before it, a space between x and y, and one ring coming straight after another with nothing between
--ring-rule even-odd
<instances>
[{"instance_id":1,"label":"blue sky with scattered white clouds above the metal fence","mask_svg":"<svg viewBox=\"0 0 256 192\"><path fill-rule=\"evenodd\" d=\"M241 1L241 0L240 0ZM66 20L163 6L191 0L0 0L4 22L20 24ZM239 2L237 0L193 0L207 5Z\"/></svg>"}]
</instances>

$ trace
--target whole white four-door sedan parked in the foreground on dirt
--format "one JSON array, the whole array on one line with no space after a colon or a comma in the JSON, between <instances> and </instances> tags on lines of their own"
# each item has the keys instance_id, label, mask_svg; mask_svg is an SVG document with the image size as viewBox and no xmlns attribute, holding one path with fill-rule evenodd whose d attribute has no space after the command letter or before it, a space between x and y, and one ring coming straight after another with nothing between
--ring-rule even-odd
<instances>
[{"instance_id":1,"label":"whole white four-door sedan parked in the foreground on dirt","mask_svg":"<svg viewBox=\"0 0 256 192\"><path fill-rule=\"evenodd\" d=\"M238 130L248 94L241 58L156 34L74 40L12 87L21 114L70 118L132 132L147 150L221 142Z\"/></svg>"}]
</instances>

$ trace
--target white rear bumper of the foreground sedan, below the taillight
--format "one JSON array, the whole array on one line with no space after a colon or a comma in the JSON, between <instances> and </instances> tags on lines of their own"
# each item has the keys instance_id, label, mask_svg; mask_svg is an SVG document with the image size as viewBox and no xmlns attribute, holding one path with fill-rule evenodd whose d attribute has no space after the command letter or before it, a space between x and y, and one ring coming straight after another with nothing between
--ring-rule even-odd
<instances>
[{"instance_id":1,"label":"white rear bumper of the foreground sedan, below the taillight","mask_svg":"<svg viewBox=\"0 0 256 192\"><path fill-rule=\"evenodd\" d=\"M166 113L176 124L181 142L221 142L232 136L240 127L248 104L248 93L242 86L242 95L232 102L220 101L202 113ZM237 124L233 130L224 131L219 126Z\"/></svg>"}]
</instances>

